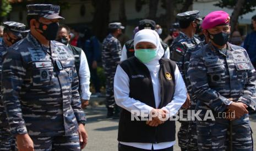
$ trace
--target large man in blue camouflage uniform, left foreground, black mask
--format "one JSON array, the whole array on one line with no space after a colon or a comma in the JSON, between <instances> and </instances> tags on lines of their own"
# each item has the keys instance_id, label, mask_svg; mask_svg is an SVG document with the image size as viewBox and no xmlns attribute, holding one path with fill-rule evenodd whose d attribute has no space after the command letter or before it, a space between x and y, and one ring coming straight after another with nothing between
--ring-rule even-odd
<instances>
[{"instance_id":1,"label":"large man in blue camouflage uniform, left foreground, black mask","mask_svg":"<svg viewBox=\"0 0 256 151\"><path fill-rule=\"evenodd\" d=\"M80 150L86 119L74 56L53 41L63 19L59 6L27 7L31 32L8 48L3 60L2 101L10 132L19 150Z\"/></svg>"}]
</instances>

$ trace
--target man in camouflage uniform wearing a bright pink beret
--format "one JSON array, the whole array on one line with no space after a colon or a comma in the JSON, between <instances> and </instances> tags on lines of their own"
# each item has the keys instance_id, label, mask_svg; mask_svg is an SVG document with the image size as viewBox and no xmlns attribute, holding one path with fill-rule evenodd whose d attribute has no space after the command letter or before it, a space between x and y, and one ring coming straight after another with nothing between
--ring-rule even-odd
<instances>
[{"instance_id":1,"label":"man in camouflage uniform wearing a bright pink beret","mask_svg":"<svg viewBox=\"0 0 256 151\"><path fill-rule=\"evenodd\" d=\"M189 63L196 111L201 119L210 111L215 119L197 120L199 150L253 150L247 107L255 92L255 69L246 50L227 42L229 20L225 11L206 15L202 27L210 42Z\"/></svg>"}]
</instances>

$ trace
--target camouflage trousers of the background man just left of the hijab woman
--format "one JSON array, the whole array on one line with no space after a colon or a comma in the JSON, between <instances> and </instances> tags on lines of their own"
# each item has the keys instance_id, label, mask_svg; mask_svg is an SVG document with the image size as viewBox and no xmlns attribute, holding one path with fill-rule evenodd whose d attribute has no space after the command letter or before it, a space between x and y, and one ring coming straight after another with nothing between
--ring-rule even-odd
<instances>
[{"instance_id":1,"label":"camouflage trousers of the background man just left of the hijab woman","mask_svg":"<svg viewBox=\"0 0 256 151\"><path fill-rule=\"evenodd\" d=\"M106 107L115 107L115 97L114 97L114 77L115 71L105 72L106 75Z\"/></svg>"}]
</instances>

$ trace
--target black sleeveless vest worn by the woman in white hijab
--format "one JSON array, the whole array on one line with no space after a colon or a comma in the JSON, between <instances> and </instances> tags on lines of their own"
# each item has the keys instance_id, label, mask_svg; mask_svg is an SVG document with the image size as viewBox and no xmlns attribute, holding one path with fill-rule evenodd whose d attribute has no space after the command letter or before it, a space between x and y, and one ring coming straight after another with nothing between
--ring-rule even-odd
<instances>
[{"instance_id":1,"label":"black sleeveless vest worn by the woman in white hijab","mask_svg":"<svg viewBox=\"0 0 256 151\"><path fill-rule=\"evenodd\" d=\"M161 102L157 108L162 108L172 101L175 92L174 72L176 63L163 58L159 62ZM124 60L120 66L129 77L129 97L156 108L153 85L148 68L136 57ZM118 141L140 143L175 141L175 121L167 120L164 124L152 127L146 125L146 121L132 121L131 113L126 109L122 109L118 127Z\"/></svg>"}]
</instances>

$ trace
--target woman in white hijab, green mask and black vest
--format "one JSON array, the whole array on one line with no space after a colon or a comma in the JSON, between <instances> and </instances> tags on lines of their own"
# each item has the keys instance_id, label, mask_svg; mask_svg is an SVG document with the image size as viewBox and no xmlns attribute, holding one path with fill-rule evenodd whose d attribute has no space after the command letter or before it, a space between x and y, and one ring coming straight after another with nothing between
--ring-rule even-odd
<instances>
[{"instance_id":1,"label":"woman in white hijab, green mask and black vest","mask_svg":"<svg viewBox=\"0 0 256 151\"><path fill-rule=\"evenodd\" d=\"M117 66L114 94L122 112L118 150L173 150L175 115L187 98L175 62L163 59L164 49L153 30L134 37L135 56Z\"/></svg>"}]
</instances>

